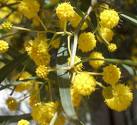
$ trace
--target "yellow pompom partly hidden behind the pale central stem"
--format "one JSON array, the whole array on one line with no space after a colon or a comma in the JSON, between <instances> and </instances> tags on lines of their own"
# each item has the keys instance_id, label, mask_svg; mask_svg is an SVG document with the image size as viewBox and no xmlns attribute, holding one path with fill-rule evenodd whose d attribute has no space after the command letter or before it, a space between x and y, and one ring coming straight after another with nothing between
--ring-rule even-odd
<instances>
[{"instance_id":1,"label":"yellow pompom partly hidden behind the pale central stem","mask_svg":"<svg viewBox=\"0 0 137 125\"><path fill-rule=\"evenodd\" d=\"M70 61L71 61L70 58L68 58L68 65L70 65ZM74 63L76 64L80 61L81 61L81 59L78 56L75 56ZM74 67L74 71L81 71L82 67L83 67L83 65L82 65L82 63L80 63Z\"/></svg>"}]
</instances>

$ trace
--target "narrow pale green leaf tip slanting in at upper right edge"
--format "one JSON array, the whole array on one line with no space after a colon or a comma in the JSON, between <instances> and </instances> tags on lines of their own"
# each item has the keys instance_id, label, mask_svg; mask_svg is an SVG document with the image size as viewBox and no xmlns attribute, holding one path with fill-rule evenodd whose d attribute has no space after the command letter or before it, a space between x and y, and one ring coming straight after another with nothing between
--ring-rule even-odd
<instances>
[{"instance_id":1,"label":"narrow pale green leaf tip slanting in at upper right edge","mask_svg":"<svg viewBox=\"0 0 137 125\"><path fill-rule=\"evenodd\" d=\"M127 20L129 23L132 23L134 25L137 26L137 16L133 15L133 14L129 14L129 13L121 13L120 16Z\"/></svg>"}]
</instances>

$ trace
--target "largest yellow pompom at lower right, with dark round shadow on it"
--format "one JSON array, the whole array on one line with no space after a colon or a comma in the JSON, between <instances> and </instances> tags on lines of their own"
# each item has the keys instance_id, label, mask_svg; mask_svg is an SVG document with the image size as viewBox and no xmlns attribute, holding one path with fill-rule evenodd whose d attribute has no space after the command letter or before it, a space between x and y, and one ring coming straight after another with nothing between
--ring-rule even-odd
<instances>
[{"instance_id":1,"label":"largest yellow pompom at lower right, with dark round shadow on it","mask_svg":"<svg viewBox=\"0 0 137 125\"><path fill-rule=\"evenodd\" d=\"M130 88L123 84L104 88L103 96L107 106L118 112L126 110L133 100Z\"/></svg>"}]
</instances>

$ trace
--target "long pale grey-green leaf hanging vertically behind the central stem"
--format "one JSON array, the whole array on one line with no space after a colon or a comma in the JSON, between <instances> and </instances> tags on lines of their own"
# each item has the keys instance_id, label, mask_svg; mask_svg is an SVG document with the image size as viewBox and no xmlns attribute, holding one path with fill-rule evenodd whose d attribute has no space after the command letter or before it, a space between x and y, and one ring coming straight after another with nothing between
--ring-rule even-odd
<instances>
[{"instance_id":1,"label":"long pale grey-green leaf hanging vertically behind the central stem","mask_svg":"<svg viewBox=\"0 0 137 125\"><path fill-rule=\"evenodd\" d=\"M63 39L66 40L66 39ZM65 43L65 42L64 42ZM61 53L64 51L63 53ZM66 51L66 48L64 46L60 47L57 55L57 68L65 67L68 65L67 60L64 60L68 56L68 51ZM62 60L60 60L62 59ZM59 60L59 63L58 63ZM60 63L62 61L62 63ZM66 115L72 119L76 120L77 115L75 112L75 109L71 102L71 96L70 96L70 73L66 70L58 70L57 71L57 77L58 77L58 84L59 84L59 93L60 93L60 99L61 104L64 109L64 112Z\"/></svg>"}]
</instances>

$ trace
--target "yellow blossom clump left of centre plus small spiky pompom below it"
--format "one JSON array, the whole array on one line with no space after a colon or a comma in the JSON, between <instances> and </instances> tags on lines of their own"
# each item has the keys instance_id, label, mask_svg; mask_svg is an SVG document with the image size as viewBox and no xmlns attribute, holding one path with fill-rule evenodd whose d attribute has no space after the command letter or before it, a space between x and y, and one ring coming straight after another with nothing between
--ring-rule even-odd
<instances>
[{"instance_id":1,"label":"yellow blossom clump left of centre plus small spiky pompom below it","mask_svg":"<svg viewBox=\"0 0 137 125\"><path fill-rule=\"evenodd\" d=\"M34 40L27 41L25 43L25 50L38 66L36 69L37 76L44 79L47 78L47 66L50 63L50 54L48 52L48 43L46 38L43 37L43 35L40 35Z\"/></svg>"}]
</instances>

